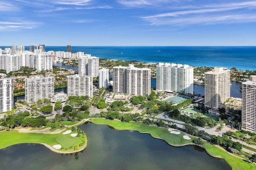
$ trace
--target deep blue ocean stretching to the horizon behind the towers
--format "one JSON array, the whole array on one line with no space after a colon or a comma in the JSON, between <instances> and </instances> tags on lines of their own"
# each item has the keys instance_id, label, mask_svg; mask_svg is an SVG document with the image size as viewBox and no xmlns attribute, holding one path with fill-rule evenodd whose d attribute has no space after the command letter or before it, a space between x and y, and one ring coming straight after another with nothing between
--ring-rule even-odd
<instances>
[{"instance_id":1,"label":"deep blue ocean stretching to the horizon behind the towers","mask_svg":"<svg viewBox=\"0 0 256 170\"><path fill-rule=\"evenodd\" d=\"M0 47L4 49L4 47ZM66 46L46 46L46 51L66 51ZM25 47L29 49L28 46ZM256 46L238 47L189 47L189 46L73 46L72 53L82 51L102 59L144 61L146 63L180 63L191 66L236 67L241 70L256 70Z\"/></svg>"}]
</instances>

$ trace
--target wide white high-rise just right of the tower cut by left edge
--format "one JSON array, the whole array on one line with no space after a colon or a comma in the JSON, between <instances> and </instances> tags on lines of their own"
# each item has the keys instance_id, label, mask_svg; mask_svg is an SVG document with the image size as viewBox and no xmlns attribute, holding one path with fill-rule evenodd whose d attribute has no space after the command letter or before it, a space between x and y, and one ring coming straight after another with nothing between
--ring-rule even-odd
<instances>
[{"instance_id":1,"label":"wide white high-rise just right of the tower cut by left edge","mask_svg":"<svg viewBox=\"0 0 256 170\"><path fill-rule=\"evenodd\" d=\"M39 99L51 99L54 96L54 77L35 76L25 78L25 100L28 103Z\"/></svg>"}]
</instances>

